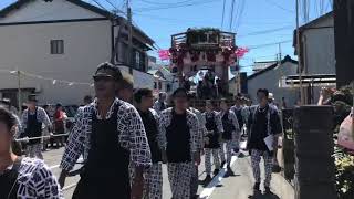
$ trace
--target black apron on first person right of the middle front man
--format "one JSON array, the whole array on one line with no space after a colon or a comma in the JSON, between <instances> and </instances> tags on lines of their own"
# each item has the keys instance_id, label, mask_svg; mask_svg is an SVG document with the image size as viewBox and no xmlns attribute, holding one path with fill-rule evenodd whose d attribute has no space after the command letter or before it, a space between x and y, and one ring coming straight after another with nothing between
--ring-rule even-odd
<instances>
[{"instance_id":1,"label":"black apron on first person right of the middle front man","mask_svg":"<svg viewBox=\"0 0 354 199\"><path fill-rule=\"evenodd\" d=\"M206 128L208 132L207 137L209 138L209 144L205 145L205 148L220 148L220 143L219 143L219 132L218 132L218 126L216 124L216 115L215 113L211 114L211 117L209 117L206 114Z\"/></svg>"}]
</instances>

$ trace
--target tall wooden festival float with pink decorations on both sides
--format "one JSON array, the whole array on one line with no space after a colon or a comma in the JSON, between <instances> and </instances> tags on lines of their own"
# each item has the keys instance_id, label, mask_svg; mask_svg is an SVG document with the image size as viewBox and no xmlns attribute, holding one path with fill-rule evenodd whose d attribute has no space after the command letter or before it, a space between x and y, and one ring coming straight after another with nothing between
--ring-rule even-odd
<instances>
[{"instance_id":1,"label":"tall wooden festival float with pink decorations on both sides","mask_svg":"<svg viewBox=\"0 0 354 199\"><path fill-rule=\"evenodd\" d=\"M230 66L238 71L237 60L247 52L236 45L236 33L204 28L171 35L171 48L160 50L159 57L169 61L179 86L190 88L198 98L219 98L229 95Z\"/></svg>"}]
</instances>

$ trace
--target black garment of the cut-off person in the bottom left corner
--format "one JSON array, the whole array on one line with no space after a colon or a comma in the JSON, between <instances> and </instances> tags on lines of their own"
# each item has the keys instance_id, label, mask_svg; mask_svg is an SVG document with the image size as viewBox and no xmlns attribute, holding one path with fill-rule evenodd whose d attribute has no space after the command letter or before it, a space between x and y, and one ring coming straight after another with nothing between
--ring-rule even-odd
<instances>
[{"instance_id":1,"label":"black garment of the cut-off person in the bottom left corner","mask_svg":"<svg viewBox=\"0 0 354 199\"><path fill-rule=\"evenodd\" d=\"M17 199L19 191L19 169L21 167L21 158L18 158L11 170L0 175L0 198L1 199Z\"/></svg>"}]
</instances>

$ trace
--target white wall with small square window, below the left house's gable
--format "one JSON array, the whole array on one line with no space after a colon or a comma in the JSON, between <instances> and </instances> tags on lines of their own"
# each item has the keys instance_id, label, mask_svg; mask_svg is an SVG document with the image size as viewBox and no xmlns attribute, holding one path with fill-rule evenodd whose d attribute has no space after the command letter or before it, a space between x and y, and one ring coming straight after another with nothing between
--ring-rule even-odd
<instances>
[{"instance_id":1,"label":"white wall with small square window, below the left house's gable","mask_svg":"<svg viewBox=\"0 0 354 199\"><path fill-rule=\"evenodd\" d=\"M54 2L54 1L53 1ZM50 41L64 40L64 54L50 54ZM0 69L70 82L92 83L96 66L111 57L111 22L67 22L0 27ZM88 85L55 84L21 78L23 87L37 87L40 103L80 104ZM18 81L0 73L0 88L17 88Z\"/></svg>"}]
</instances>

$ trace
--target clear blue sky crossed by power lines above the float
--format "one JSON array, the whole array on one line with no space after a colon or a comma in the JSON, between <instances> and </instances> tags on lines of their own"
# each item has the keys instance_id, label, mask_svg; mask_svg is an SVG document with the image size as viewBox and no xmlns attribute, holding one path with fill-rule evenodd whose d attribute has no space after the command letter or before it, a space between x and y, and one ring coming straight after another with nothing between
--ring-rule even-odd
<instances>
[{"instance_id":1,"label":"clear blue sky crossed by power lines above the float","mask_svg":"<svg viewBox=\"0 0 354 199\"><path fill-rule=\"evenodd\" d=\"M95 4L93 0L86 1ZM107 10L114 9L107 2L110 1L125 11L124 0L97 1ZM0 8L11 2L14 1L1 0ZM190 27L221 28L223 0L131 0L131 2L133 21L162 49L170 46L171 34L184 32ZM236 32L237 45L251 49L241 60L243 71L250 71L253 61L275 59L279 53L278 44L267 46L263 44L283 42L282 55L294 56L292 34L295 28L295 0L235 0L233 23L229 29L231 2L232 0L226 0L222 30ZM319 17L321 10L323 12L331 10L331 0L309 0L309 2L310 20Z\"/></svg>"}]
</instances>

